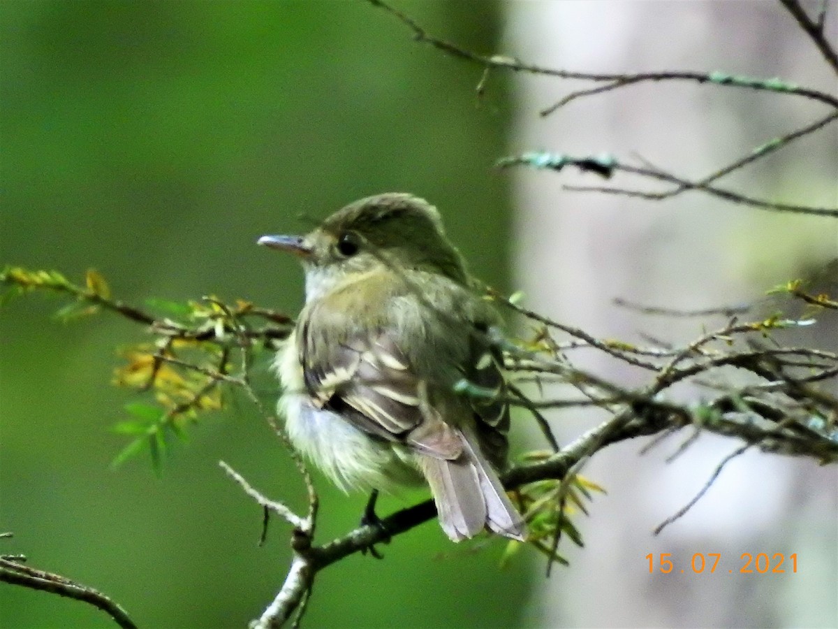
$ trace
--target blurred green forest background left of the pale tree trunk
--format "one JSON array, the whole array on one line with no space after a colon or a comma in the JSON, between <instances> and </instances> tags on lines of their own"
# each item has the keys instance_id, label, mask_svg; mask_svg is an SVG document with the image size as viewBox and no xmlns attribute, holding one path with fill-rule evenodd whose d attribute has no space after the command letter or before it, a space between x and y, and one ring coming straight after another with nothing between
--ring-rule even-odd
<instances>
[{"instance_id":1,"label":"blurred green forest background left of the pale tree trunk","mask_svg":"<svg viewBox=\"0 0 838 629\"><path fill-rule=\"evenodd\" d=\"M491 52L496 3L401 2L444 38ZM411 191L442 211L473 271L504 288L510 98L492 77L416 45L362 2L0 3L0 262L98 269L116 296L251 299L295 313L302 277L254 245L360 196ZM34 296L0 310L4 554L111 595L140 626L245 626L282 584L288 530L225 478L226 460L300 505L282 446L246 402L204 418L156 478L109 464L116 316L71 325ZM264 374L266 361L257 366ZM264 382L269 382L265 380ZM261 394L277 392L266 385ZM319 539L354 526L365 496L322 491ZM404 496L406 502L421 496ZM387 513L399 507L387 498ZM309 626L512 626L531 585L504 543L453 546L436 524L324 572ZM112 626L80 602L0 586L0 626Z\"/></svg>"}]
</instances>

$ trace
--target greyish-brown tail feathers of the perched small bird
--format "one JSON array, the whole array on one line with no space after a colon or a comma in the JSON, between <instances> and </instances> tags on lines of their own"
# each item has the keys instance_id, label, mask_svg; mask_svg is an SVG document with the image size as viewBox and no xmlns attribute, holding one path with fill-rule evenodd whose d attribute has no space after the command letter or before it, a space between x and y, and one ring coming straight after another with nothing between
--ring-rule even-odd
<instances>
[{"instance_id":1,"label":"greyish-brown tail feathers of the perched small bird","mask_svg":"<svg viewBox=\"0 0 838 629\"><path fill-rule=\"evenodd\" d=\"M457 459L421 457L442 530L454 542L472 538L484 527L524 541L524 520L506 496L498 475L476 441L462 432L460 435L463 453Z\"/></svg>"}]
</instances>

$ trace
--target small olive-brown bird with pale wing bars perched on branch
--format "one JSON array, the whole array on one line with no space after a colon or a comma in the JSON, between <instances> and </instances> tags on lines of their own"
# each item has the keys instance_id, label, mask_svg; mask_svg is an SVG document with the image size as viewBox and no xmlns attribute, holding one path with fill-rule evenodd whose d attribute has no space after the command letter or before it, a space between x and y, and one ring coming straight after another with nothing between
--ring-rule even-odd
<instances>
[{"instance_id":1,"label":"small olive-brown bird with pale wing bars perched on branch","mask_svg":"<svg viewBox=\"0 0 838 629\"><path fill-rule=\"evenodd\" d=\"M499 315L482 299L439 212L406 194L346 205L306 236L263 236L305 270L306 303L277 353L292 444L341 489L427 481L453 541L484 528L523 540L500 484L510 413ZM458 382L496 395L468 397Z\"/></svg>"}]
</instances>

